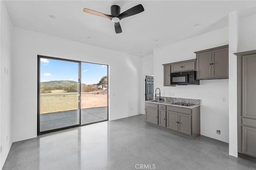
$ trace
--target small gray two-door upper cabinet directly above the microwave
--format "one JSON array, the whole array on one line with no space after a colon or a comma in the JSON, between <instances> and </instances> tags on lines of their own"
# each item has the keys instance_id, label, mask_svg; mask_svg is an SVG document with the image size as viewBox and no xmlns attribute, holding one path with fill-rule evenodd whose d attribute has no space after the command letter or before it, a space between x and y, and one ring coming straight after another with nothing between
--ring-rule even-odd
<instances>
[{"instance_id":1,"label":"small gray two-door upper cabinet directly above the microwave","mask_svg":"<svg viewBox=\"0 0 256 170\"><path fill-rule=\"evenodd\" d=\"M171 63L171 73L195 70L195 59Z\"/></svg>"}]
</instances>

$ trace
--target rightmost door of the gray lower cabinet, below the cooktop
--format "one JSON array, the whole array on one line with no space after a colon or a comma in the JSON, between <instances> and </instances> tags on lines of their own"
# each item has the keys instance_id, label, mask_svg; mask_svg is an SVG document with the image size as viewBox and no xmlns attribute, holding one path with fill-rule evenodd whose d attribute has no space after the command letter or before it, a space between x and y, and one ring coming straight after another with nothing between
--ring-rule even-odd
<instances>
[{"instance_id":1,"label":"rightmost door of the gray lower cabinet, below the cooktop","mask_svg":"<svg viewBox=\"0 0 256 170\"><path fill-rule=\"evenodd\" d=\"M178 113L178 131L191 135L191 115Z\"/></svg>"}]
</instances>

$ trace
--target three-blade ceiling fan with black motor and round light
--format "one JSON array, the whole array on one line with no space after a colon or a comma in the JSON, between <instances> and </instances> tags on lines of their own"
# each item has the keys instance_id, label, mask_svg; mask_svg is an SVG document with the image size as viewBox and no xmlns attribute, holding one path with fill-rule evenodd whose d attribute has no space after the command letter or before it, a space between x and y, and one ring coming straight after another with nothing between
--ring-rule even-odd
<instances>
[{"instance_id":1,"label":"three-blade ceiling fan with black motor and round light","mask_svg":"<svg viewBox=\"0 0 256 170\"><path fill-rule=\"evenodd\" d=\"M139 14L140 12L143 12L143 11L144 11L144 8L143 8L142 4L136 5L132 8L130 8L130 9L122 12L121 14L120 14L120 6L112 5L110 7L111 15L103 14L103 13L100 13L100 12L97 12L97 11L94 11L94 10L84 8L84 12L86 12L86 13L94 14L94 15L97 15L97 16L102 16L102 17L108 18L112 22L114 22L116 34L122 32L122 28L121 28L120 23L119 23L120 20L122 20L123 18L126 18L128 16L133 16L135 14Z\"/></svg>"}]
</instances>

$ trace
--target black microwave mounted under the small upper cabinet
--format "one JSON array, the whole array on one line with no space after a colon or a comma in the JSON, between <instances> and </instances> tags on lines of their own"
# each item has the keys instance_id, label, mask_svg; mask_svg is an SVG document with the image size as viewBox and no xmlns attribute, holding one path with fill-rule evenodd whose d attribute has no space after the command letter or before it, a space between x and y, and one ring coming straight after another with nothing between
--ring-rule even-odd
<instances>
[{"instance_id":1,"label":"black microwave mounted under the small upper cabinet","mask_svg":"<svg viewBox=\"0 0 256 170\"><path fill-rule=\"evenodd\" d=\"M171 85L199 85L200 81L196 80L196 71L185 71L171 73Z\"/></svg>"}]
</instances>

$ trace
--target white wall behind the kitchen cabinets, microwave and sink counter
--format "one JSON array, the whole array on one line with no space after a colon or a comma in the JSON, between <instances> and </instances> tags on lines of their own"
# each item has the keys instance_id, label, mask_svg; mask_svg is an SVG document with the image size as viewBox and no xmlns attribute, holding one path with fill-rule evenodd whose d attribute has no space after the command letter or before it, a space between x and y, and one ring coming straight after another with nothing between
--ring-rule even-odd
<instances>
[{"instance_id":1,"label":"white wall behind the kitchen cabinets, microwave and sink counter","mask_svg":"<svg viewBox=\"0 0 256 170\"><path fill-rule=\"evenodd\" d=\"M166 45L154 50L154 87L161 89L165 97L201 99L201 134L228 142L228 79L200 80L194 86L163 86L165 63L196 58L194 51L228 44L228 28L222 28L194 38ZM226 97L226 102L222 102ZM220 130L221 134L216 134Z\"/></svg>"}]
</instances>

